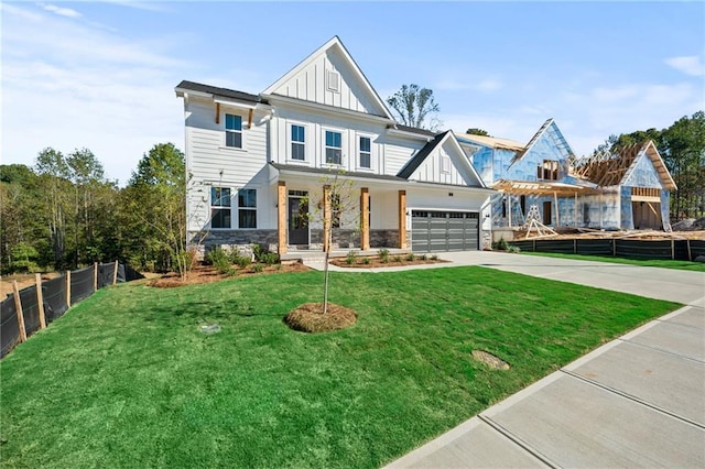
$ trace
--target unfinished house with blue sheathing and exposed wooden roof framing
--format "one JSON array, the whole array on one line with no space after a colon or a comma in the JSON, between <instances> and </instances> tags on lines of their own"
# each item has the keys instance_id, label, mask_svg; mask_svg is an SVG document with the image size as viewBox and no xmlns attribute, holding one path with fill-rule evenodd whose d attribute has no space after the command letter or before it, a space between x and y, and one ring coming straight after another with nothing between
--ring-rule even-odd
<instances>
[{"instance_id":1,"label":"unfinished house with blue sheathing and exposed wooden roof framing","mask_svg":"<svg viewBox=\"0 0 705 469\"><path fill-rule=\"evenodd\" d=\"M496 233L525 228L530 212L550 228L670 231L676 186L651 141L577 159L553 119L525 145L470 134L458 141L485 183L500 192L484 214Z\"/></svg>"}]
</instances>

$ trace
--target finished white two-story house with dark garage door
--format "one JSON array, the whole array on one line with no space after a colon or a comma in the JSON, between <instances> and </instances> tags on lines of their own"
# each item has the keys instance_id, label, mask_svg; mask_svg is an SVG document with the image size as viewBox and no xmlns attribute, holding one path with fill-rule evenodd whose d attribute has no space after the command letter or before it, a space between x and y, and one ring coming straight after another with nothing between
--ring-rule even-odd
<instances>
[{"instance_id":1,"label":"finished white two-story house with dark garage door","mask_svg":"<svg viewBox=\"0 0 705 469\"><path fill-rule=\"evenodd\" d=\"M494 192L453 132L398 124L337 36L259 95L193 81L175 90L191 242L284 254L324 249L327 227L332 248L346 250L476 250L489 239ZM355 203L340 215L329 200L341 181Z\"/></svg>"}]
</instances>

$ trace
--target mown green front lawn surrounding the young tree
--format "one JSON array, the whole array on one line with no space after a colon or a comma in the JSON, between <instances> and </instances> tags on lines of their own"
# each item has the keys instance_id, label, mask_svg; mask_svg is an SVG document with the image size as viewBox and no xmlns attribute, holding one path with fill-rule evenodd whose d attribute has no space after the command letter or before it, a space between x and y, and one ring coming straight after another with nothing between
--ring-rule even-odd
<instances>
[{"instance_id":1,"label":"mown green front lawn surrounding the young tree","mask_svg":"<svg viewBox=\"0 0 705 469\"><path fill-rule=\"evenodd\" d=\"M0 465L379 467L677 306L482 268L332 273L357 325L288 329L322 279L98 292L0 362Z\"/></svg>"}]
</instances>

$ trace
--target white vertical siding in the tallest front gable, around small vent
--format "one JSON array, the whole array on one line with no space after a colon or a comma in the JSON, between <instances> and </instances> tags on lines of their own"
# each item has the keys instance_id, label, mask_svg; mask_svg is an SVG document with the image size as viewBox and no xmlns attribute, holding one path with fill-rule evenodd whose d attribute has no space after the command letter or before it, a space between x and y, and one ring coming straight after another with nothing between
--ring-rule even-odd
<instances>
[{"instance_id":1,"label":"white vertical siding in the tallest front gable, around small vent","mask_svg":"<svg viewBox=\"0 0 705 469\"><path fill-rule=\"evenodd\" d=\"M339 91L329 89L327 72L338 74ZM358 85L355 72L347 61L333 48L282 84L273 94L351 111L378 116L381 113L372 97Z\"/></svg>"}]
</instances>

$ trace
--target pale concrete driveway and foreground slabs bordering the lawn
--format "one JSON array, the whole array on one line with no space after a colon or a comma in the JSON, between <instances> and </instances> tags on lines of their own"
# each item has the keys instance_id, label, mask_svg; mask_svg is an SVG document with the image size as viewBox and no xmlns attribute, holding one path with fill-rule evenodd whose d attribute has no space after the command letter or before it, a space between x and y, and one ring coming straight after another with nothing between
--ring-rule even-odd
<instances>
[{"instance_id":1,"label":"pale concrete driveway and foreground slabs bordering the lawn","mask_svg":"<svg viewBox=\"0 0 705 469\"><path fill-rule=\"evenodd\" d=\"M705 467L705 273L495 252L441 257L688 306L389 467Z\"/></svg>"}]
</instances>

